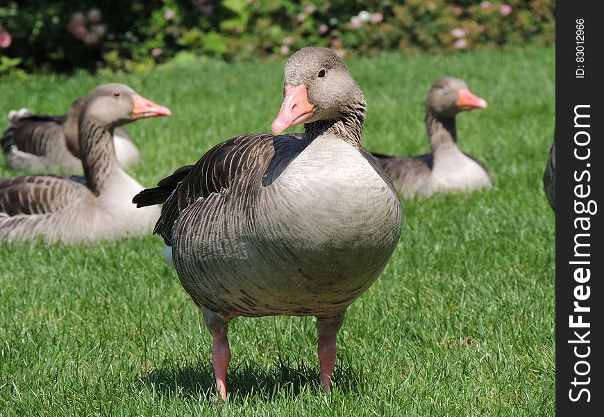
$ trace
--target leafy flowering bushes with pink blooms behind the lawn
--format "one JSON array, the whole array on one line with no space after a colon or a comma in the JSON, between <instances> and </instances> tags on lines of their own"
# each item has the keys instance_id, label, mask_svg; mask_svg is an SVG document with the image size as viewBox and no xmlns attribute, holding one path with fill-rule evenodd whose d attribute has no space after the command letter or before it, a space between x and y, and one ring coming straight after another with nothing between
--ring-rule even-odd
<instances>
[{"instance_id":1,"label":"leafy flowering bushes with pink blooms behind the lawn","mask_svg":"<svg viewBox=\"0 0 604 417\"><path fill-rule=\"evenodd\" d=\"M28 71L146 71L185 50L245 60L309 45L364 54L551 44L555 1L12 0L2 26L13 41L0 54Z\"/></svg>"}]
</instances>

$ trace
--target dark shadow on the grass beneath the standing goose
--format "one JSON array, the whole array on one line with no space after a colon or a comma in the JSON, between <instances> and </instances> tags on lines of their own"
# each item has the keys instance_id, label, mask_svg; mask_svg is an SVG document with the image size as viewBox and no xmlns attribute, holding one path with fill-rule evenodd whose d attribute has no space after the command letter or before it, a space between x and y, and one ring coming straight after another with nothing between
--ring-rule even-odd
<instances>
[{"instance_id":1,"label":"dark shadow on the grass beneath the standing goose","mask_svg":"<svg viewBox=\"0 0 604 417\"><path fill-rule=\"evenodd\" d=\"M364 370L356 370L351 363L338 361L333 375L336 389L342 393L361 393L369 388ZM216 391L214 373L208 365L174 366L151 370L140 377L142 386L174 398L182 395L187 399L205 397L215 400ZM260 398L273 401L285 395L296 398L307 387L317 394L322 393L319 387L319 372L313 364L307 366L303 361L293 366L284 361L278 361L267 371L257 363L249 361L240 366L230 368L226 376L227 392L230 401Z\"/></svg>"}]
</instances>

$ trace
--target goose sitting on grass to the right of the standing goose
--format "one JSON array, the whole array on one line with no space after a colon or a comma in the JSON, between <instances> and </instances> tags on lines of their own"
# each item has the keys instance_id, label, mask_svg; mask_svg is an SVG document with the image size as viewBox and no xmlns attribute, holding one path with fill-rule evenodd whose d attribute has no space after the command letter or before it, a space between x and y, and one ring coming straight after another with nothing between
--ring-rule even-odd
<instances>
[{"instance_id":1,"label":"goose sitting on grass to the right of the standing goose","mask_svg":"<svg viewBox=\"0 0 604 417\"><path fill-rule=\"evenodd\" d=\"M462 79L446 76L433 83L426 99L426 129L432 153L414 157L374 153L401 197L492 187L485 165L458 147L455 129L458 113L486 107L487 101L473 95Z\"/></svg>"}]
</instances>

